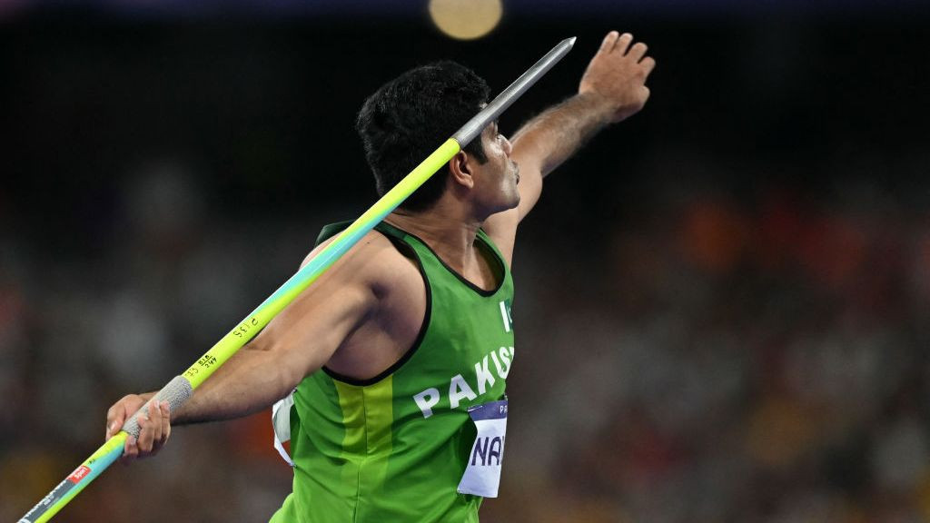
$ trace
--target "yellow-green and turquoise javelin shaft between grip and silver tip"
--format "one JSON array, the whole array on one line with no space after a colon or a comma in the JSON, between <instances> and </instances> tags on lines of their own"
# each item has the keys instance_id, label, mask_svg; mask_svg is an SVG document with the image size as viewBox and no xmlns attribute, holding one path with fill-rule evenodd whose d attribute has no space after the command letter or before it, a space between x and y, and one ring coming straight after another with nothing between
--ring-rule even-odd
<instances>
[{"instance_id":1,"label":"yellow-green and turquoise javelin shaft between grip and silver tip","mask_svg":"<svg viewBox=\"0 0 930 523\"><path fill-rule=\"evenodd\" d=\"M255 337L259 330L264 329L288 303L297 298L303 289L309 287L316 278L339 260L339 257L362 239L362 236L390 214L407 196L413 194L433 173L445 166L452 159L452 156L458 154L460 150L461 147L458 145L458 141L451 138L440 145L439 149L436 149L435 152L423 160L417 168L410 171L410 174L406 175L404 180L400 181L387 194L381 196L381 199L375 205L353 221L352 225L343 231L339 237L314 256L295 275L291 276L284 285L275 290L274 294L252 311L252 314L246 316L246 319L240 322L235 329L223 336L182 376L188 382L191 382L194 389L200 386L219 366L226 363L226 360L236 351Z\"/></svg>"}]
</instances>

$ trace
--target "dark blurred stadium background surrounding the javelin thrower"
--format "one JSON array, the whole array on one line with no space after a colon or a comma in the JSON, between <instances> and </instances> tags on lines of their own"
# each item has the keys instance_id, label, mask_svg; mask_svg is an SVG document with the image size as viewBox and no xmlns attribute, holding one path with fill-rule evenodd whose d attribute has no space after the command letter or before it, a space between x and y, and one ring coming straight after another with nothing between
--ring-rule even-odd
<instances>
[{"instance_id":1,"label":"dark blurred stadium background surrounding the javelin thrower","mask_svg":"<svg viewBox=\"0 0 930 523\"><path fill-rule=\"evenodd\" d=\"M0 520L100 445L375 199L365 96L450 58L501 120L570 95L601 37L642 114L547 181L514 261L504 486L482 521L930 521L930 10L923 2L0 1ZM265 521L268 413L183 427L60 521Z\"/></svg>"}]
</instances>

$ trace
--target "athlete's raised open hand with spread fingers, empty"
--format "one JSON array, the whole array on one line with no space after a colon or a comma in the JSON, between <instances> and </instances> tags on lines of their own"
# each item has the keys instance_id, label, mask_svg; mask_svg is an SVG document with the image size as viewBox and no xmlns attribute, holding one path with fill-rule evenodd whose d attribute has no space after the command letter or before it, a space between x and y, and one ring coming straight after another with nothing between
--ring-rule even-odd
<instances>
[{"instance_id":1,"label":"athlete's raised open hand with spread fingers, empty","mask_svg":"<svg viewBox=\"0 0 930 523\"><path fill-rule=\"evenodd\" d=\"M645 55L646 45L633 35L611 31L581 77L578 94L599 97L608 104L610 122L617 123L643 109L649 99L645 80L656 60Z\"/></svg>"}]
</instances>

